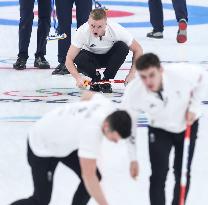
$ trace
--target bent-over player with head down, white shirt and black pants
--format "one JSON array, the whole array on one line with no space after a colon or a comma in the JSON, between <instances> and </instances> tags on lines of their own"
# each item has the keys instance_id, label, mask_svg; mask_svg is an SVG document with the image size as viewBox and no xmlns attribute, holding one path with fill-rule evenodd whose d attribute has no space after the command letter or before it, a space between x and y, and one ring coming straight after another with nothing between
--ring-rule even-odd
<instances>
[{"instance_id":1,"label":"bent-over player with head down, white shirt and black pants","mask_svg":"<svg viewBox=\"0 0 208 205\"><path fill-rule=\"evenodd\" d=\"M108 205L99 184L96 159L103 136L113 142L129 138L131 124L129 114L118 110L101 94L89 93L85 101L68 104L46 114L34 125L28 137L33 195L12 205L48 205L54 172L59 162L80 178L72 205L86 205L90 196L99 205ZM127 140L130 147L133 146L131 143L131 140ZM133 166L130 171L132 177L137 176Z\"/></svg>"}]
</instances>

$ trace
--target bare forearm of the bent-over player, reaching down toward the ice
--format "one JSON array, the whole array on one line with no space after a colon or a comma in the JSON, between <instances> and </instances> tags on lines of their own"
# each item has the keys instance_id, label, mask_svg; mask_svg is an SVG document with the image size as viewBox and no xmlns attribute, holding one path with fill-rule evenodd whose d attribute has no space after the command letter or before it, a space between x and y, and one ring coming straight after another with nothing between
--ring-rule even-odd
<instances>
[{"instance_id":1,"label":"bare forearm of the bent-over player, reaching down toward the ice","mask_svg":"<svg viewBox=\"0 0 208 205\"><path fill-rule=\"evenodd\" d=\"M96 160L80 157L82 178L88 193L99 205L108 205L96 174Z\"/></svg>"}]
</instances>

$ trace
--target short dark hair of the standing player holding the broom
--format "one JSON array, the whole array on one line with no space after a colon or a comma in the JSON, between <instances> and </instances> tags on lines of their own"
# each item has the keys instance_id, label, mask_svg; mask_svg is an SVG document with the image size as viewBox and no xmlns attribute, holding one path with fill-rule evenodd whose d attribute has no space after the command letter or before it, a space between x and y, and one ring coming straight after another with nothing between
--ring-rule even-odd
<instances>
[{"instance_id":1,"label":"short dark hair of the standing player holding the broom","mask_svg":"<svg viewBox=\"0 0 208 205\"><path fill-rule=\"evenodd\" d=\"M146 53L136 60L136 69L138 71L146 70L150 67L161 67L160 59L154 53Z\"/></svg>"}]
</instances>

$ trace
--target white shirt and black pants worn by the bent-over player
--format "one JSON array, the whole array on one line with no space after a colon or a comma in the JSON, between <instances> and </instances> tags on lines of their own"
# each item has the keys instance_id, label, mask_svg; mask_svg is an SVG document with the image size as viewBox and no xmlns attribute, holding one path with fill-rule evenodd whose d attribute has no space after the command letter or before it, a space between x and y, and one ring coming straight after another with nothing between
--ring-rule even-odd
<instances>
[{"instance_id":1,"label":"white shirt and black pants worn by the bent-over player","mask_svg":"<svg viewBox=\"0 0 208 205\"><path fill-rule=\"evenodd\" d=\"M102 123L116 110L110 100L95 94L90 101L58 108L38 121L28 137L28 162L32 169L34 193L30 198L12 205L49 204L53 176L59 162L71 168L81 180L72 205L86 205L90 195L81 178L79 157L99 157L103 139ZM97 174L100 179L99 172Z\"/></svg>"}]
</instances>

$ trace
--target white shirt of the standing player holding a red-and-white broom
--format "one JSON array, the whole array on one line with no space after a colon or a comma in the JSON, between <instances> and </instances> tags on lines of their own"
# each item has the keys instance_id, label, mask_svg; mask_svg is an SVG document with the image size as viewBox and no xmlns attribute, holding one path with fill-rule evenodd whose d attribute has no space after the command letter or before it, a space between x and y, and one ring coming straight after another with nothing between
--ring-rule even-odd
<instances>
[{"instance_id":1,"label":"white shirt of the standing player holding a red-and-white broom","mask_svg":"<svg viewBox=\"0 0 208 205\"><path fill-rule=\"evenodd\" d=\"M186 128L186 111L200 116L205 91L202 70L188 64L175 64L163 72L162 99L149 91L139 76L125 90L123 104L131 113L147 113L150 126L179 133Z\"/></svg>"}]
</instances>

